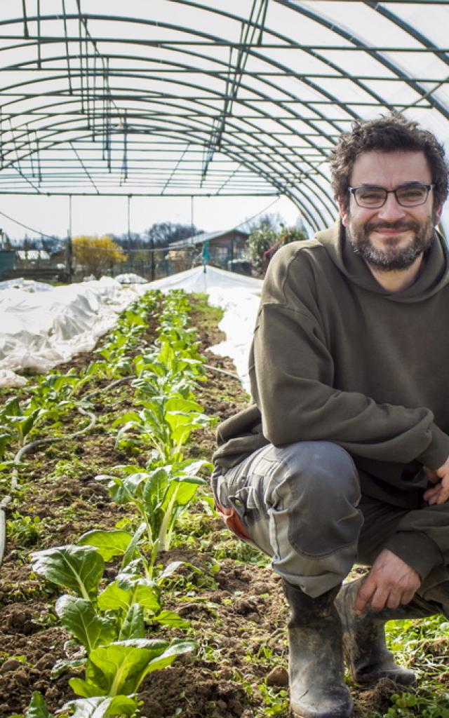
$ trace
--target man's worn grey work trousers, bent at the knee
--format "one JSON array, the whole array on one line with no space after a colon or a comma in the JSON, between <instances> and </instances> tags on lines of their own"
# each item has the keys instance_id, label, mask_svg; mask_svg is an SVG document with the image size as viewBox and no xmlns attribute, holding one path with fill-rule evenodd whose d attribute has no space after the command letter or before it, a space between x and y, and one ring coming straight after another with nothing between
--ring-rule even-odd
<instances>
[{"instance_id":1,"label":"man's worn grey work trousers, bent at the knee","mask_svg":"<svg viewBox=\"0 0 449 718\"><path fill-rule=\"evenodd\" d=\"M212 487L274 570L311 597L341 583L353 564L371 565L397 531L427 533L440 546L442 564L425 577L423 595L449 579L449 504L408 510L360 502L356 465L338 444L268 444L227 472L215 470Z\"/></svg>"}]
</instances>

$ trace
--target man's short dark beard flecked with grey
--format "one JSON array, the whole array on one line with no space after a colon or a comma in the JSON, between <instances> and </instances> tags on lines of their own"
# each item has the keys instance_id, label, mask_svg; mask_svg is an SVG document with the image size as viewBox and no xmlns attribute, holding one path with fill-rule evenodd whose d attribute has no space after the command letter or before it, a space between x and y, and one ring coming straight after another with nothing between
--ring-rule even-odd
<instances>
[{"instance_id":1,"label":"man's short dark beard flecked with grey","mask_svg":"<svg viewBox=\"0 0 449 718\"><path fill-rule=\"evenodd\" d=\"M374 230L394 229L412 232L407 246L398 246L397 238L384 238L382 248L374 246L370 235ZM398 271L407 269L415 259L423 254L433 243L434 223L432 217L423 222L399 220L397 222L366 222L361 224L349 218L346 229L353 251L367 264L380 271Z\"/></svg>"}]
</instances>

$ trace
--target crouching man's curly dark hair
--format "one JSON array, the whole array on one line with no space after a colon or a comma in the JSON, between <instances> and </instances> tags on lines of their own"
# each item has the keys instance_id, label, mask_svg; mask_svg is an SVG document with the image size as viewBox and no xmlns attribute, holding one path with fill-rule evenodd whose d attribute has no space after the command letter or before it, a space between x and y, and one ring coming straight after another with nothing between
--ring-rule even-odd
<instances>
[{"instance_id":1,"label":"crouching man's curly dark hair","mask_svg":"<svg viewBox=\"0 0 449 718\"><path fill-rule=\"evenodd\" d=\"M353 123L352 131L341 135L337 146L330 152L330 172L334 197L343 198L349 205L348 187L354 162L361 152L422 151L432 174L434 208L443 204L448 196L448 165L443 145L435 135L422 129L417 122L402 115L389 115L376 120Z\"/></svg>"}]
</instances>

